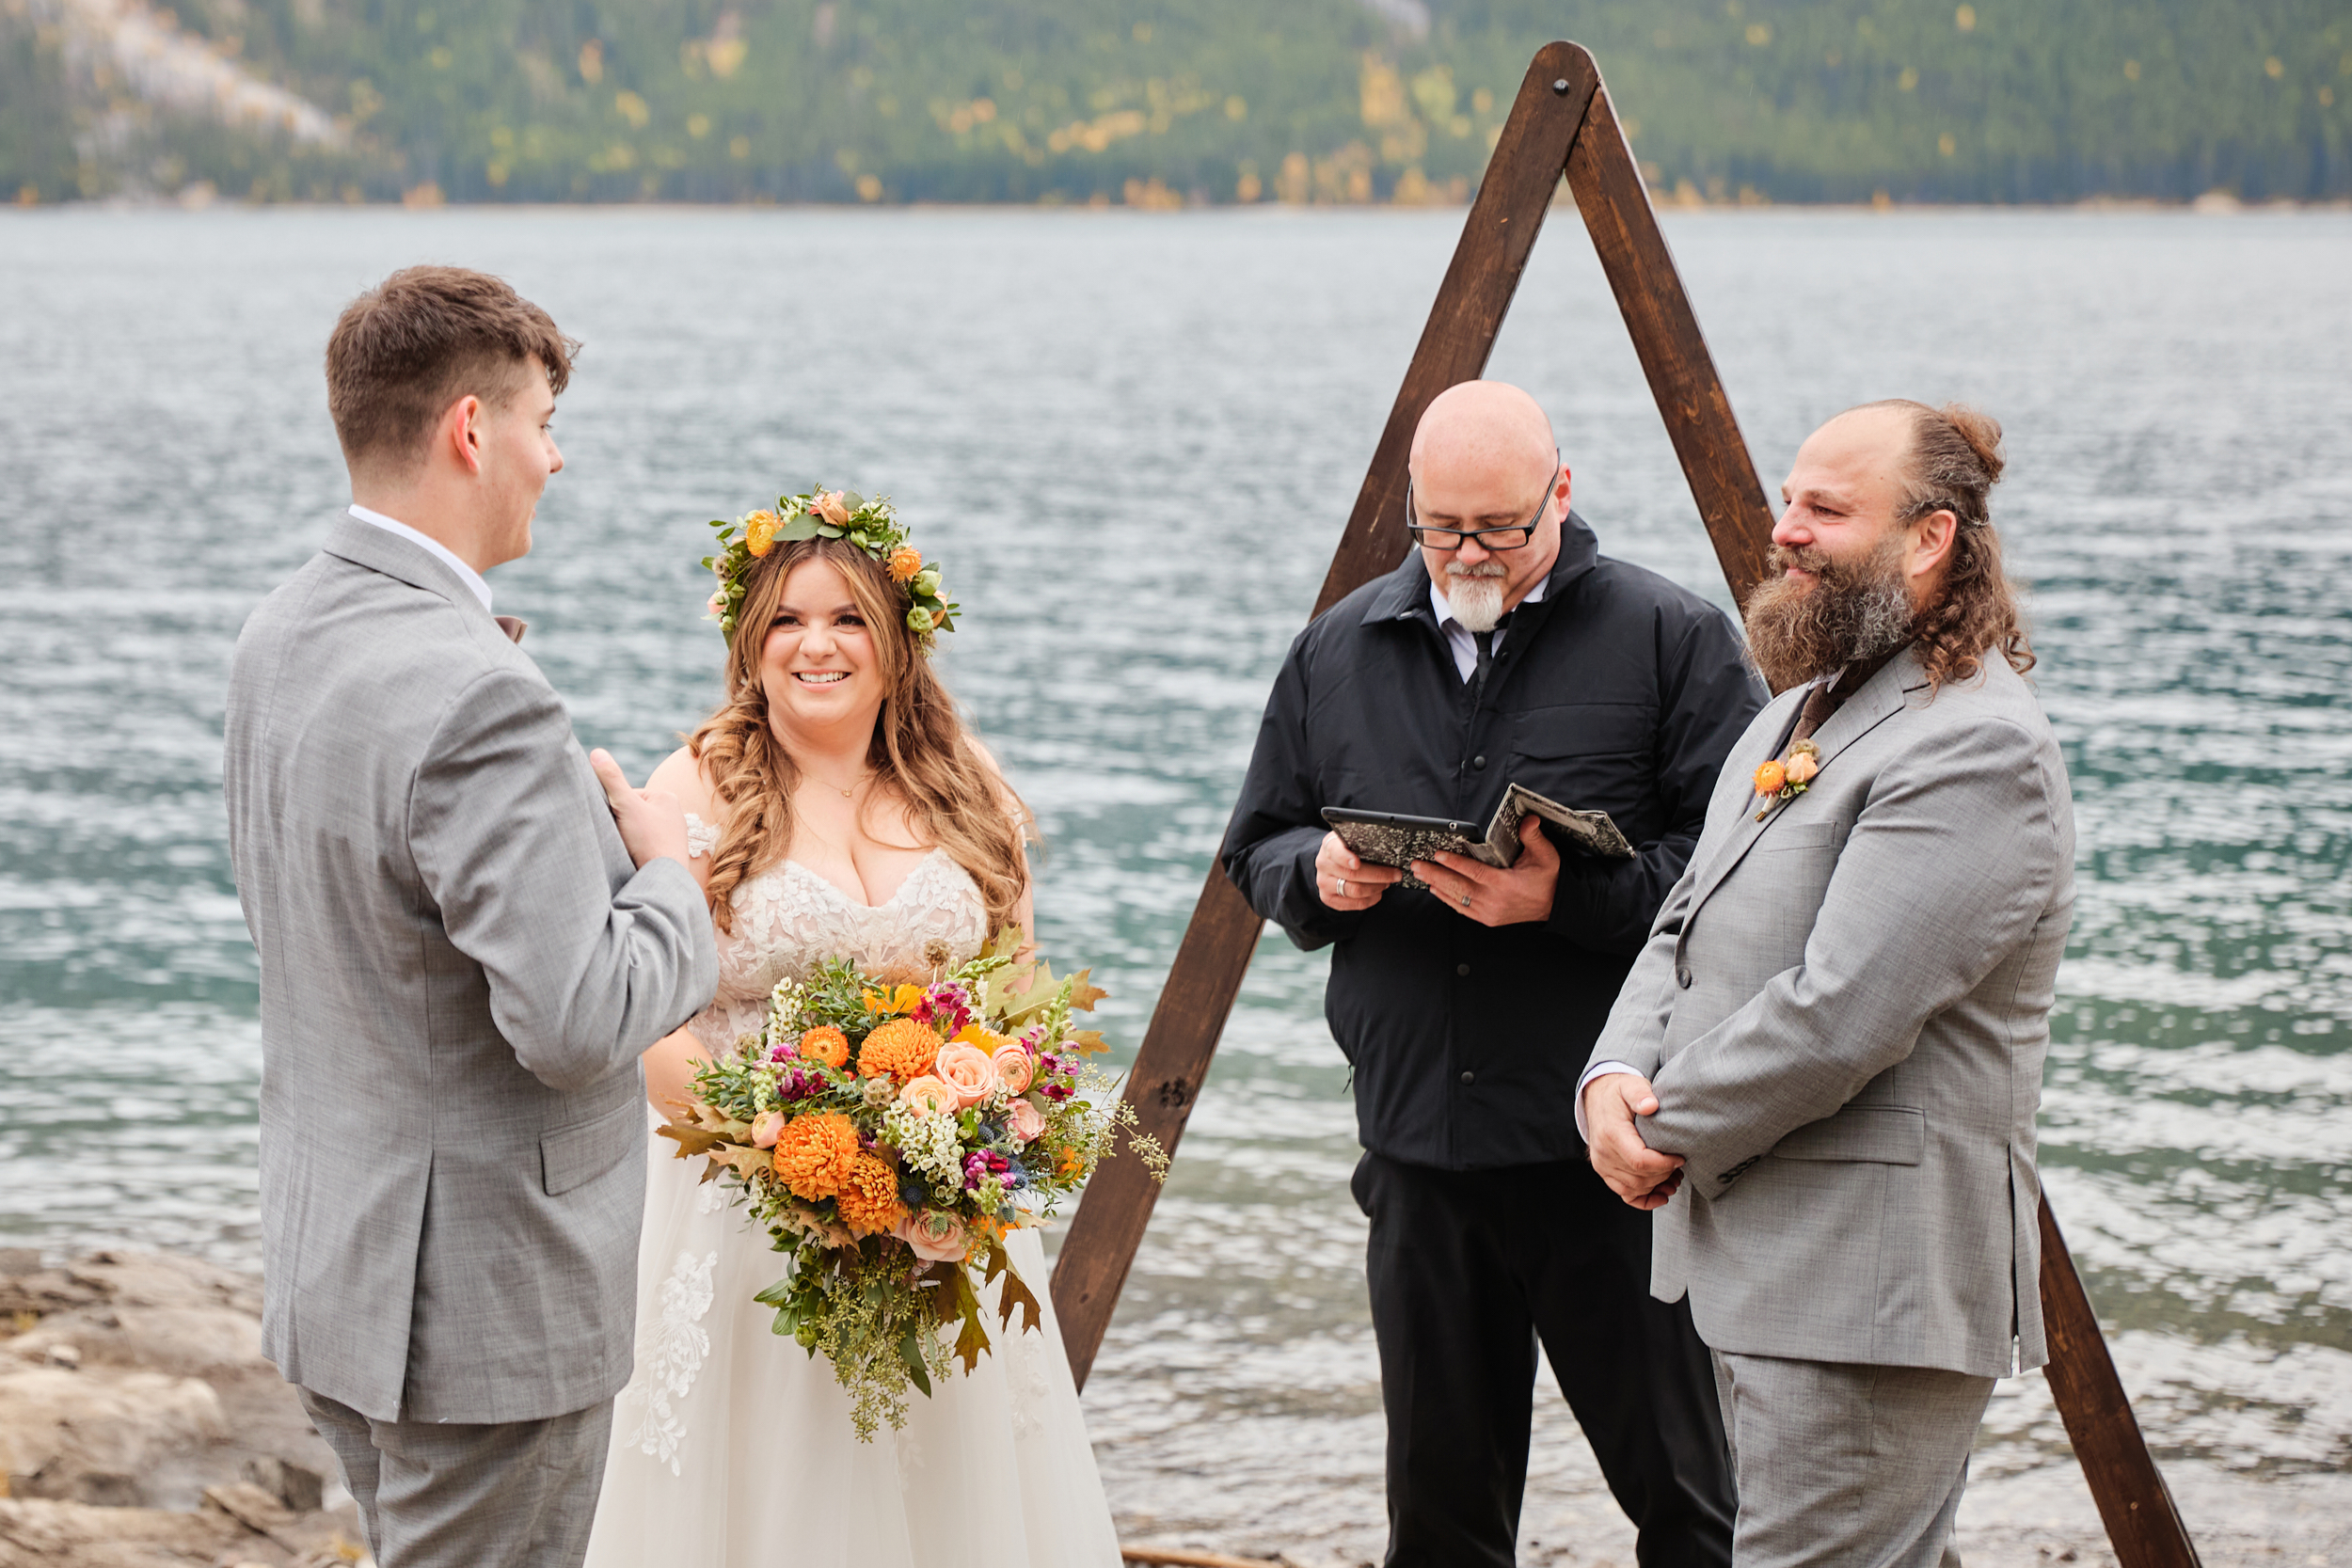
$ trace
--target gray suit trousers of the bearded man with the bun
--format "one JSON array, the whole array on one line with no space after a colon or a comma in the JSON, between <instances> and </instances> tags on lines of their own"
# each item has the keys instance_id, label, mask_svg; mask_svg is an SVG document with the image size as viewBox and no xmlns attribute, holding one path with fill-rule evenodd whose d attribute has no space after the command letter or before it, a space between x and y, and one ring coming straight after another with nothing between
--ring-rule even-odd
<instances>
[{"instance_id":1,"label":"gray suit trousers of the bearded man with the bun","mask_svg":"<svg viewBox=\"0 0 2352 1568\"><path fill-rule=\"evenodd\" d=\"M1959 1568L1952 1521L1992 1378L1715 1352L1733 1568Z\"/></svg>"}]
</instances>

